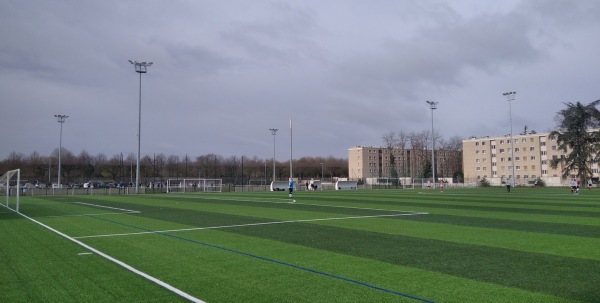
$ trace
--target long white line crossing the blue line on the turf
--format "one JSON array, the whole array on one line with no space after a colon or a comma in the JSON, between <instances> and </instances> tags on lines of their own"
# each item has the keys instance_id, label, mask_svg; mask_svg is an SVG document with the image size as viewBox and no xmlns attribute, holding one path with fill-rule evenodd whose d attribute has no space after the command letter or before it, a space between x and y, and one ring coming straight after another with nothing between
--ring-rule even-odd
<instances>
[{"instance_id":1,"label":"long white line crossing the blue line on the turf","mask_svg":"<svg viewBox=\"0 0 600 303\"><path fill-rule=\"evenodd\" d=\"M381 218L381 217L415 216L415 215L427 215L427 214L428 213L414 212L414 213L389 214L389 215L332 217L332 218L320 218L320 219L271 221L271 222L234 224L234 225L223 225L223 226L207 226L207 227L181 228L181 229L169 229L169 230L142 231L142 232L136 232L136 233L79 236L79 237L73 237L73 238L74 239L85 239L85 238L101 238L101 237L135 236L135 235L173 233L173 232L205 230L205 229L223 229L223 228L232 228L232 227L247 227L247 226L272 225L272 224L301 223L301 222L315 222L315 221L333 221L333 220L351 220L351 219L366 219L366 218Z\"/></svg>"}]
</instances>

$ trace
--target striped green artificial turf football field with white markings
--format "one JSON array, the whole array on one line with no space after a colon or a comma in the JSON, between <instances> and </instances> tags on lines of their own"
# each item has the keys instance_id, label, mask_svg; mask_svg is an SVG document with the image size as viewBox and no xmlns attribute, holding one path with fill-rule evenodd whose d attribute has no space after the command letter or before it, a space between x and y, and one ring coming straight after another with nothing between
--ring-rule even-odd
<instances>
[{"instance_id":1,"label":"striped green artificial turf football field with white markings","mask_svg":"<svg viewBox=\"0 0 600 303\"><path fill-rule=\"evenodd\" d=\"M600 189L294 199L21 197L0 302L600 302Z\"/></svg>"}]
</instances>

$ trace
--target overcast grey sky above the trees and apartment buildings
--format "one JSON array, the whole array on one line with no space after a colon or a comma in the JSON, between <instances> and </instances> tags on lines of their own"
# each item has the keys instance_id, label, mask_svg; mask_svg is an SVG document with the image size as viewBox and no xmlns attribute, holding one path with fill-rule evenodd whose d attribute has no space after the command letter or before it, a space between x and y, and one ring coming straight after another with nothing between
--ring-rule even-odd
<instances>
[{"instance_id":1,"label":"overcast grey sky above the trees and apartment buildings","mask_svg":"<svg viewBox=\"0 0 600 303\"><path fill-rule=\"evenodd\" d=\"M391 131L545 132L600 99L600 1L0 1L0 159L347 157Z\"/></svg>"}]
</instances>

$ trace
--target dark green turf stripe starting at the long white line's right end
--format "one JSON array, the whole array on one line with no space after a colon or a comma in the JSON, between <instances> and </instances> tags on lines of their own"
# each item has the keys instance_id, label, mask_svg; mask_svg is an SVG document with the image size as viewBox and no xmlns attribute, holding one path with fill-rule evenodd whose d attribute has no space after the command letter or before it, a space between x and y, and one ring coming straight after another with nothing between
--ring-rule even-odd
<instances>
[{"instance_id":1,"label":"dark green turf stripe starting at the long white line's right end","mask_svg":"<svg viewBox=\"0 0 600 303\"><path fill-rule=\"evenodd\" d=\"M452 215L429 214L427 216L402 216L394 219L420 222L444 223L460 226L485 227L495 229L537 232L555 235L581 236L600 238L600 226L577 225L565 223L516 221L492 218L477 218Z\"/></svg>"}]
</instances>

